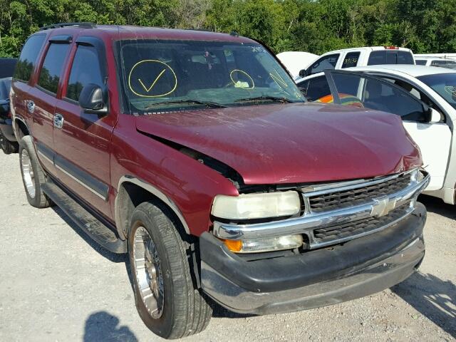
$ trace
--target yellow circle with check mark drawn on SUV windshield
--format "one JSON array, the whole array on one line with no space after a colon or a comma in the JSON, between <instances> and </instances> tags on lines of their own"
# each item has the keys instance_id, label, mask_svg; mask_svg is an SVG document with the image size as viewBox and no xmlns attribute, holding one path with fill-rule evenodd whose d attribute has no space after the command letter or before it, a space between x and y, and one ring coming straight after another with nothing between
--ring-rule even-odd
<instances>
[{"instance_id":1,"label":"yellow circle with check mark drawn on SUV windshield","mask_svg":"<svg viewBox=\"0 0 456 342\"><path fill-rule=\"evenodd\" d=\"M176 90L177 76L167 63L145 59L131 68L128 87L132 93L143 98L158 98Z\"/></svg>"}]
</instances>

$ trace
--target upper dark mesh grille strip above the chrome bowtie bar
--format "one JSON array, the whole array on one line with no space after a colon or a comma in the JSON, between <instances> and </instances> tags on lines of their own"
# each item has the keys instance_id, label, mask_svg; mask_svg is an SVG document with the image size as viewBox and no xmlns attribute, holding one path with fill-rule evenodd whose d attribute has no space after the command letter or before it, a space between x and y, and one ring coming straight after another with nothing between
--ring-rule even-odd
<instances>
[{"instance_id":1,"label":"upper dark mesh grille strip above the chrome bowtie bar","mask_svg":"<svg viewBox=\"0 0 456 342\"><path fill-rule=\"evenodd\" d=\"M309 196L311 212L326 212L328 210L353 207L384 195L391 195L410 185L410 173L399 175L385 182L349 190L328 192L321 195Z\"/></svg>"}]
</instances>

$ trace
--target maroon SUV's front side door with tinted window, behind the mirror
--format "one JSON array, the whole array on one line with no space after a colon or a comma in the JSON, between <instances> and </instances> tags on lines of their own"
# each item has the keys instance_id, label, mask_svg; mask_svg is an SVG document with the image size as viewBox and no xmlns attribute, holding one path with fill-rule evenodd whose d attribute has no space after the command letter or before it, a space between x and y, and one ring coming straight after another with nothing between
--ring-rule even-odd
<instances>
[{"instance_id":1,"label":"maroon SUV's front side door with tinted window, behind the mirror","mask_svg":"<svg viewBox=\"0 0 456 342\"><path fill-rule=\"evenodd\" d=\"M116 117L114 113L86 113L78 103L81 90L89 83L105 88L108 73L104 44L95 37L78 37L70 59L67 81L54 110L58 118L54 126L58 177L109 218L110 138Z\"/></svg>"}]
</instances>

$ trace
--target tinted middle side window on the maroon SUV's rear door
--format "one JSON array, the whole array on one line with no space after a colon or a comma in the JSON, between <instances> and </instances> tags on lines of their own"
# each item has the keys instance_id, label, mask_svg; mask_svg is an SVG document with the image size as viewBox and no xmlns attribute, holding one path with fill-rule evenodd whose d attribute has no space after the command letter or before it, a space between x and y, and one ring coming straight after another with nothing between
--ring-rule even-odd
<instances>
[{"instance_id":1,"label":"tinted middle side window on the maroon SUV's rear door","mask_svg":"<svg viewBox=\"0 0 456 342\"><path fill-rule=\"evenodd\" d=\"M63 61L65 61L69 48L69 44L51 43L44 58L43 66L41 67L38 86L49 90L51 93L57 93Z\"/></svg>"}]
</instances>

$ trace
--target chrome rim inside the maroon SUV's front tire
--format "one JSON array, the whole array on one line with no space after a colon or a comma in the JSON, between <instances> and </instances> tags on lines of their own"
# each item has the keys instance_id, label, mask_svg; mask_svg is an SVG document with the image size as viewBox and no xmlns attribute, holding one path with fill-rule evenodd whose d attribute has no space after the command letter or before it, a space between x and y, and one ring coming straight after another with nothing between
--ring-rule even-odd
<instances>
[{"instance_id":1,"label":"chrome rim inside the maroon SUV's front tire","mask_svg":"<svg viewBox=\"0 0 456 342\"><path fill-rule=\"evenodd\" d=\"M163 276L157 247L145 227L138 227L133 244L134 273L142 302L152 318L163 313Z\"/></svg>"}]
</instances>

